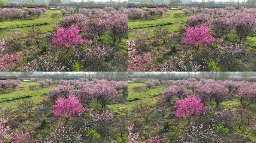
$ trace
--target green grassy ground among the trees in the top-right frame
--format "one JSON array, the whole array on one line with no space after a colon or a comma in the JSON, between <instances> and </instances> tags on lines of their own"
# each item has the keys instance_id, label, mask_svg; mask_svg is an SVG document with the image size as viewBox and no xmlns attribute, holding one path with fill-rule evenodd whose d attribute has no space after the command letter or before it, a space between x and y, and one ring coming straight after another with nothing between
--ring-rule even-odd
<instances>
[{"instance_id":1,"label":"green grassy ground among the trees in the top-right frame","mask_svg":"<svg viewBox=\"0 0 256 143\"><path fill-rule=\"evenodd\" d=\"M196 15L198 15L196 13ZM157 58L153 63L162 64L164 60L168 60L170 55L173 53L173 47L175 47L176 51L185 50L187 51L185 45L181 44L180 39L171 38L172 34L179 32L179 25L189 16L185 16L182 10L168 10L162 18L159 15L155 15L153 17L149 16L147 19L129 19L128 20L128 38L132 40L135 38L135 34L139 31L149 32L149 36L146 39L149 50L144 52L143 54L154 55ZM157 27L166 26L169 28L171 35L166 39L166 43L164 44L162 40L154 35L153 29ZM212 32L212 31L210 31ZM225 39L225 35L222 37L224 39L223 42L231 42L233 44L239 43L239 38L235 33L235 30L232 30L228 35L228 39ZM242 44L246 46L246 51L255 50L256 48L256 36L255 34L250 34L247 36L246 40L242 40ZM252 71L249 67L246 67L247 63L243 62L241 59L241 63L238 65L237 71Z\"/></svg>"}]
</instances>

